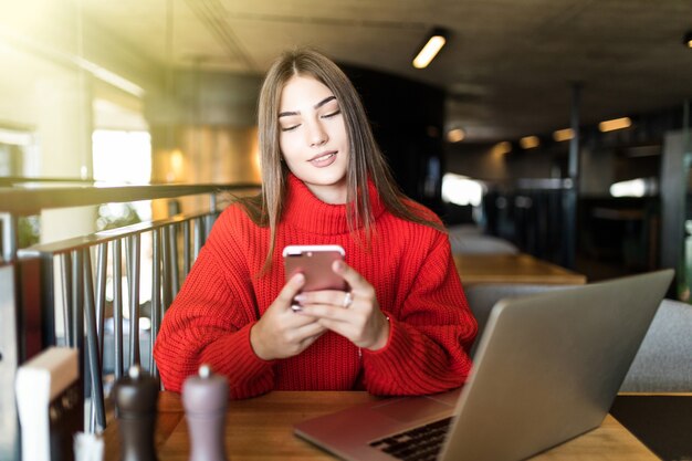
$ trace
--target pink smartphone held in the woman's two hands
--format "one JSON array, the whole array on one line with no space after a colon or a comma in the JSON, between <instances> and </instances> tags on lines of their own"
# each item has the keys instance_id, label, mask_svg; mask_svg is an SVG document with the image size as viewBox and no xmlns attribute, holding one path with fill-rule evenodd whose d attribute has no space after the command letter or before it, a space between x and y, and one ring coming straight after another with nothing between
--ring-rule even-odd
<instances>
[{"instance_id":1,"label":"pink smartphone held in the woman's two hands","mask_svg":"<svg viewBox=\"0 0 692 461\"><path fill-rule=\"evenodd\" d=\"M302 291L346 290L346 281L332 270L332 263L346 255L339 245L289 245L283 249L286 281L295 273L305 275Z\"/></svg>"}]
</instances>

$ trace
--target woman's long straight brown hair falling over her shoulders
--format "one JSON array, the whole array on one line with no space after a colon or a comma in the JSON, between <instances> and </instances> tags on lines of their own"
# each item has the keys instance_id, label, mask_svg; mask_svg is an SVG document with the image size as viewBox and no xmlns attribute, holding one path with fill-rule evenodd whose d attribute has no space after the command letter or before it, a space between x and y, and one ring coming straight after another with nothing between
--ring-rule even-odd
<instances>
[{"instance_id":1,"label":"woman's long straight brown hair falling over her shoulders","mask_svg":"<svg viewBox=\"0 0 692 461\"><path fill-rule=\"evenodd\" d=\"M344 116L350 150L346 172L348 210L346 218L350 231L363 228L366 242L369 242L375 221L370 197L367 193L369 178L380 200L394 216L444 232L443 226L427 219L405 202L407 198L397 187L375 142L360 97L344 72L319 52L297 49L282 54L264 78L260 92L258 119L262 191L256 197L240 200L254 223L270 228L271 241L264 271L271 265L276 241L276 224L283 212L282 197L289 174L289 167L282 161L279 146L281 92L294 75L310 75L327 86L336 96Z\"/></svg>"}]
</instances>

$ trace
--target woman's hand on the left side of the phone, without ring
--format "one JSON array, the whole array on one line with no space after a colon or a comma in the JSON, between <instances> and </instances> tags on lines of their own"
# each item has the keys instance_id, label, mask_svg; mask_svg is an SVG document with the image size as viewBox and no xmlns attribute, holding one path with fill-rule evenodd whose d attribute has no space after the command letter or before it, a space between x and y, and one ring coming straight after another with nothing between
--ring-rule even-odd
<instances>
[{"instance_id":1,"label":"woman's hand on the left side of the phone, without ring","mask_svg":"<svg viewBox=\"0 0 692 461\"><path fill-rule=\"evenodd\" d=\"M326 332L316 318L296 315L291 308L293 298L304 283L305 276L295 274L252 326L250 344L258 357L264 360L292 357L305 350Z\"/></svg>"}]
</instances>

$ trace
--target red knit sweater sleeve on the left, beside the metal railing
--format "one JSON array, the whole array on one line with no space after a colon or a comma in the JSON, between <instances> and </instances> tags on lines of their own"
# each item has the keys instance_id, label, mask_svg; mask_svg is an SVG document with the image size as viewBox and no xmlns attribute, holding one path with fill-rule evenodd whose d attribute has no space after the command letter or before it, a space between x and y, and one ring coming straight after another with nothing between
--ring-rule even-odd
<instances>
[{"instance_id":1,"label":"red knit sweater sleeve on the left, beside the metal railing","mask_svg":"<svg viewBox=\"0 0 692 461\"><path fill-rule=\"evenodd\" d=\"M168 390L180 392L185 379L208 364L227 376L231 398L253 397L274 387L273 363L252 349L256 307L250 276L242 264L221 263L219 233L212 231L166 312L154 357Z\"/></svg>"}]
</instances>

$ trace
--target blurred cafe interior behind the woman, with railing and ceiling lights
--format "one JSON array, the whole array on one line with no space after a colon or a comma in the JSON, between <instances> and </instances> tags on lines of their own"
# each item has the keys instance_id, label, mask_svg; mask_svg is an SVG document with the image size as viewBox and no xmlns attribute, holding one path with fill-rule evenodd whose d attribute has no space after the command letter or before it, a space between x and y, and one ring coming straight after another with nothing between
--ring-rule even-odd
<instances>
[{"instance_id":1,"label":"blurred cafe interior behind the woman, with railing and ceiling lights","mask_svg":"<svg viewBox=\"0 0 692 461\"><path fill-rule=\"evenodd\" d=\"M258 92L294 46L352 78L399 186L447 224L470 291L672 268L667 297L690 303L690 1L1 0L0 11L3 411L12 370L50 345L83 352L92 431L108 418L94 402L127 364L156 375L160 318L214 217L259 190ZM413 62L431 38L437 55ZM19 430L3 425L0 459Z\"/></svg>"}]
</instances>

